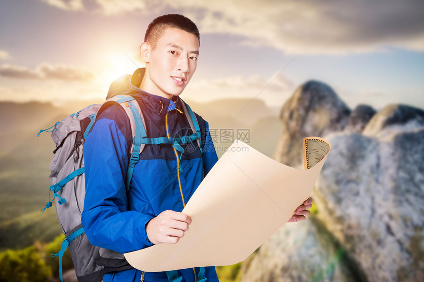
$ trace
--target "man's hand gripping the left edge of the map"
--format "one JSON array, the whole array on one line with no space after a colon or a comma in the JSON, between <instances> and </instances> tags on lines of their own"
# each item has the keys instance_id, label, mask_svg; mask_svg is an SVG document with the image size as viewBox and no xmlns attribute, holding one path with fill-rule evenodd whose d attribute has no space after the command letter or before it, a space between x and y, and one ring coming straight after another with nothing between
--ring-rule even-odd
<instances>
[{"instance_id":1,"label":"man's hand gripping the left edge of the map","mask_svg":"<svg viewBox=\"0 0 424 282\"><path fill-rule=\"evenodd\" d=\"M190 223L191 218L185 214L164 211L147 223L147 237L153 244L175 244L184 237L184 232L188 230Z\"/></svg>"}]
</instances>

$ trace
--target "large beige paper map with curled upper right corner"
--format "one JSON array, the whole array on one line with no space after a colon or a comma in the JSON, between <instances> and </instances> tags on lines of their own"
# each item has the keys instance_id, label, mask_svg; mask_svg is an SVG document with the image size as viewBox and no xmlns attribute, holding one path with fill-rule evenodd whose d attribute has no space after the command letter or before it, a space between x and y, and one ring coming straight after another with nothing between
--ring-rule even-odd
<instances>
[{"instance_id":1,"label":"large beige paper map with curled upper right corner","mask_svg":"<svg viewBox=\"0 0 424 282\"><path fill-rule=\"evenodd\" d=\"M319 137L307 137L303 143L305 167L306 162L311 167L306 170L286 166L236 140L182 211L192 218L185 236L177 244L128 252L125 258L147 272L245 260L312 192L330 145Z\"/></svg>"}]
</instances>

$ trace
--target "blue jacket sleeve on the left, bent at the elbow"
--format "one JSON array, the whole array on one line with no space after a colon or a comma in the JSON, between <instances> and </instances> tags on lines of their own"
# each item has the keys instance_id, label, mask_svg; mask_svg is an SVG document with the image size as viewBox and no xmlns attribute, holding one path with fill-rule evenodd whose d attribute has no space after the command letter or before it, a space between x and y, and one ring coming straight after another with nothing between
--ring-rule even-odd
<instances>
[{"instance_id":1,"label":"blue jacket sleeve on the left, bent at the elbow","mask_svg":"<svg viewBox=\"0 0 424 282\"><path fill-rule=\"evenodd\" d=\"M152 217L127 210L128 146L117 123L103 118L96 121L83 149L85 233L92 245L121 253L152 245L145 232Z\"/></svg>"}]
</instances>

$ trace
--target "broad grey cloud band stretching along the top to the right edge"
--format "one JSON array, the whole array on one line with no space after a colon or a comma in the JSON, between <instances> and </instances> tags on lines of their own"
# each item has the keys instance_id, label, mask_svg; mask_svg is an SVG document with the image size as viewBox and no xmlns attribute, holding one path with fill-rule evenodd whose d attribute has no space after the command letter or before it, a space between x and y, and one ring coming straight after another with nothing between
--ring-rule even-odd
<instances>
[{"instance_id":1,"label":"broad grey cloud band stretching along the top to the right edge","mask_svg":"<svg viewBox=\"0 0 424 282\"><path fill-rule=\"evenodd\" d=\"M82 9L83 0L43 0ZM93 3L93 2L90 2ZM288 54L347 54L398 47L424 51L422 0L95 0L105 15L179 12L201 33L236 35L244 45ZM87 6L88 7L88 6ZM85 7L85 8L87 8Z\"/></svg>"}]
</instances>

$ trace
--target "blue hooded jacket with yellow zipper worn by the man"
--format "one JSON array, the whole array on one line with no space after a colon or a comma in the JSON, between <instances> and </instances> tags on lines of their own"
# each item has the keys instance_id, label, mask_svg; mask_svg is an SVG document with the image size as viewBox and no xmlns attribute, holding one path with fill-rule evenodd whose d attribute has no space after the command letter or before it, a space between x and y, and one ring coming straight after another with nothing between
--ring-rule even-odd
<instances>
[{"instance_id":1,"label":"blue hooded jacket with yellow zipper worn by the man","mask_svg":"<svg viewBox=\"0 0 424 282\"><path fill-rule=\"evenodd\" d=\"M190 135L185 115L177 110L183 101L141 91L135 85L140 85L142 74L142 69L138 69L131 77L118 79L112 83L108 96L134 96L151 138ZM152 243L145 231L147 222L165 210L182 211L218 160L208 123L197 114L196 117L202 130L203 154L196 141L182 145L182 155L171 145L145 145L127 193L125 177L132 144L128 116L118 105L99 113L83 149L86 195L81 221L92 245L121 253L149 247ZM178 272L183 281L194 282L199 269ZM134 268L116 271L106 274L104 281L140 281L141 274ZM214 267L206 268L206 277L208 282L218 281ZM144 281L168 279L164 272L146 272Z\"/></svg>"}]
</instances>

